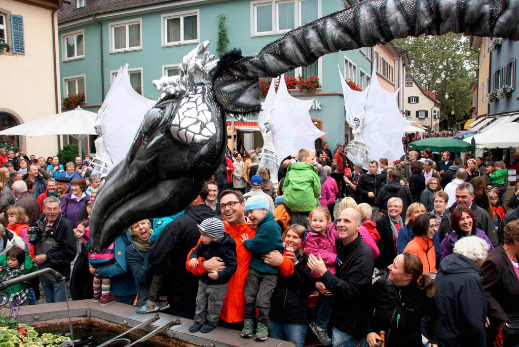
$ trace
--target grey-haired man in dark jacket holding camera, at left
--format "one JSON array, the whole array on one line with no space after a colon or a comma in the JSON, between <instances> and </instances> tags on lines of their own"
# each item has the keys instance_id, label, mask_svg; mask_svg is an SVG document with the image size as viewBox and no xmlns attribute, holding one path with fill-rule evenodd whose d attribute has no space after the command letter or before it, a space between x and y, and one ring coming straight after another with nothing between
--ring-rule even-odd
<instances>
[{"instance_id":1,"label":"grey-haired man in dark jacket holding camera, at left","mask_svg":"<svg viewBox=\"0 0 519 347\"><path fill-rule=\"evenodd\" d=\"M39 270L52 268L68 280L77 250L72 224L61 215L61 202L55 196L43 201L43 213L28 231L29 242L35 247L33 263ZM40 281L47 303L66 300L63 283L50 274L40 277Z\"/></svg>"}]
</instances>

